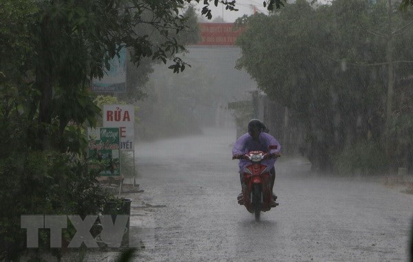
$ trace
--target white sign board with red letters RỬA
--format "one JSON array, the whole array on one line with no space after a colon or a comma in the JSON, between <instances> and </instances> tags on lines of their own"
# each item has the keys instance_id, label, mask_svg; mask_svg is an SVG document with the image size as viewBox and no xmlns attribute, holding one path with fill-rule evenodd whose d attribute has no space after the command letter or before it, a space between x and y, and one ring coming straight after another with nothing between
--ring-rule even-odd
<instances>
[{"instance_id":1,"label":"white sign board with red letters R\u1eecA","mask_svg":"<svg viewBox=\"0 0 413 262\"><path fill-rule=\"evenodd\" d=\"M120 150L134 151L134 105L103 105L103 126L119 128Z\"/></svg>"}]
</instances>

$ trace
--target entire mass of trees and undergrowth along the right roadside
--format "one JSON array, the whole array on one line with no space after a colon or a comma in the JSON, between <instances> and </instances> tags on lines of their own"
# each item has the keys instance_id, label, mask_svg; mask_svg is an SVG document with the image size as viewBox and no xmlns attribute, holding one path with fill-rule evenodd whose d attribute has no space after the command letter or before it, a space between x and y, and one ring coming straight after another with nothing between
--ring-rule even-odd
<instances>
[{"instance_id":1,"label":"entire mass of trees and undergrowth along the right roadside","mask_svg":"<svg viewBox=\"0 0 413 262\"><path fill-rule=\"evenodd\" d=\"M297 0L237 21L237 68L293 112L313 169L412 170L412 21L398 1Z\"/></svg>"}]
</instances>

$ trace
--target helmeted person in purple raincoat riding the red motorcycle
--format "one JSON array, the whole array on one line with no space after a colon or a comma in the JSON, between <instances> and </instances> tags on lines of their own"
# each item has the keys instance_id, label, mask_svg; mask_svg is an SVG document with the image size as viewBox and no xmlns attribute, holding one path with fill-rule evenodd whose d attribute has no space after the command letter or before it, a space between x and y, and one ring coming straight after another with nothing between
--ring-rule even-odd
<instances>
[{"instance_id":1,"label":"helmeted person in purple raincoat riding the red motorcycle","mask_svg":"<svg viewBox=\"0 0 413 262\"><path fill-rule=\"evenodd\" d=\"M264 132L266 131L266 132ZM251 163L244 159L244 154L247 154L251 151L262 151L267 152L265 154L265 160L262 161L263 165L267 167L272 167L270 170L271 174L271 192L273 192L274 182L275 182L275 159L280 156L279 152L281 151L281 145L278 143L277 139L275 139L271 134L267 133L268 130L264 123L262 123L258 119L252 119L248 122L248 132L243 134L240 138L235 141L233 146L233 157L240 159L238 163L240 167L240 179L241 179L241 186L244 184L242 175L242 171L246 168L247 165ZM242 201L242 193L238 195L238 201ZM278 203L275 202L277 200L277 196L273 193L273 199L271 201L271 205L273 207L277 206Z\"/></svg>"}]
</instances>

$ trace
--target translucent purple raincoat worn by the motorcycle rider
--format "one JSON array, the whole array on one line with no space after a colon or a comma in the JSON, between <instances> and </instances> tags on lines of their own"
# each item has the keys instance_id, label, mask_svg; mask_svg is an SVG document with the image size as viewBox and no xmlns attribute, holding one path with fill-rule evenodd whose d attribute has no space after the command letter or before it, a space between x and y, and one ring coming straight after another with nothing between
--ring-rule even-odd
<instances>
[{"instance_id":1,"label":"translucent purple raincoat worn by the motorcycle rider","mask_svg":"<svg viewBox=\"0 0 413 262\"><path fill-rule=\"evenodd\" d=\"M255 141L250 134L246 133L243 134L237 141L235 141L233 147L233 156L237 154L247 154L251 151L262 151L268 152L270 145L277 145L277 149L269 150L269 153L279 153L281 151L281 145L278 143L277 139L275 139L271 134L267 134L265 132L261 132L260 136L258 137L258 141ZM263 165L268 167L273 167L275 163L275 159L267 159L261 162ZM240 171L244 170L247 165L251 165L250 161L240 159Z\"/></svg>"}]
</instances>

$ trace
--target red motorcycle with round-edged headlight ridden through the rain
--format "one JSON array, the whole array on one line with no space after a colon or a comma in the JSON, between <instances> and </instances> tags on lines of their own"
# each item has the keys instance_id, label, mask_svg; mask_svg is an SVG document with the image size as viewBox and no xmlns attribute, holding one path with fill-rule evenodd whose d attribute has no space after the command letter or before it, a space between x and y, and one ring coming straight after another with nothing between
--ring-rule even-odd
<instances>
[{"instance_id":1,"label":"red motorcycle with round-edged headlight ridden through the rain","mask_svg":"<svg viewBox=\"0 0 413 262\"><path fill-rule=\"evenodd\" d=\"M279 157L279 155L276 154L273 157ZM261 163L261 161L266 159L266 153L251 151L248 154L233 157L233 159L251 161L251 165L246 166L242 172L243 198L238 203L245 205L248 212L255 213L255 221L260 221L261 212L271 210L271 199L273 198L270 174L272 167L267 167Z\"/></svg>"}]
</instances>

